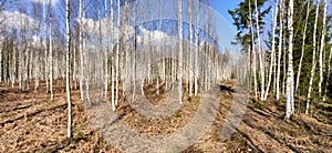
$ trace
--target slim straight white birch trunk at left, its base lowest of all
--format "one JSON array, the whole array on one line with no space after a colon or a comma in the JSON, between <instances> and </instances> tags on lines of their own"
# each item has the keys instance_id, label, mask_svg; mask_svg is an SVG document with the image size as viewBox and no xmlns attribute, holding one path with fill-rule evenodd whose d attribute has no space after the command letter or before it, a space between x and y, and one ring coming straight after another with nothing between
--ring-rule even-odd
<instances>
[{"instance_id":1,"label":"slim straight white birch trunk at left, its base lowest of all","mask_svg":"<svg viewBox=\"0 0 332 153\"><path fill-rule=\"evenodd\" d=\"M70 48L71 48L71 31L70 31L70 0L65 0L65 28L66 28L66 51L65 51L65 89L68 101L68 137L72 136L72 102L70 89Z\"/></svg>"}]
</instances>

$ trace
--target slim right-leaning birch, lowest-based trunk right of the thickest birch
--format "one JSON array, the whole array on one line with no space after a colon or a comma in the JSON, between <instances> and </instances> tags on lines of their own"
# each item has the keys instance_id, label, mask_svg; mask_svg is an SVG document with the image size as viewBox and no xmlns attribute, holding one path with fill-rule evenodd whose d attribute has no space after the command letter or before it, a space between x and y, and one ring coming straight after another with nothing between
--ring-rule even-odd
<instances>
[{"instance_id":1,"label":"slim right-leaning birch, lowest-based trunk right of the thickest birch","mask_svg":"<svg viewBox=\"0 0 332 153\"><path fill-rule=\"evenodd\" d=\"M314 19L314 29L313 29L313 44L312 44L312 68L311 68L311 74L310 74L310 81L309 81L309 89L308 89L308 96L307 96L307 106L305 106L305 114L309 113L309 105L311 101L311 91L312 91L312 84L313 84L313 78L315 72L315 52L317 52L317 27L318 27L318 17L319 17L319 10L320 10L320 0L317 1L317 8L315 8L315 19Z\"/></svg>"}]
</instances>

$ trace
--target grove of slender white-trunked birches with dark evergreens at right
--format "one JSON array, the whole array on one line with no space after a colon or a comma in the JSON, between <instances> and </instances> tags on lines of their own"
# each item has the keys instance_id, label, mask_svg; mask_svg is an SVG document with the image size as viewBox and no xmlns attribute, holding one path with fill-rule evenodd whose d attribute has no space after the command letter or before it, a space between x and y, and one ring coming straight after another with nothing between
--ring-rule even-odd
<instances>
[{"instance_id":1,"label":"grove of slender white-trunked birches with dark evergreens at right","mask_svg":"<svg viewBox=\"0 0 332 153\"><path fill-rule=\"evenodd\" d=\"M271 7L267 0L242 0L229 10L238 31L229 41L237 48L221 44L209 2L174 1L164 8L163 0L65 0L59 6L44 0L30 12L0 6L1 16L17 20L0 17L0 83L48 92L50 103L63 88L69 137L71 90L87 108L102 101L116 111L152 93L175 91L186 104L222 81L247 81L253 102L284 104L284 120L331 101L328 0L272 0ZM175 20L164 19L168 14Z\"/></svg>"}]
</instances>

